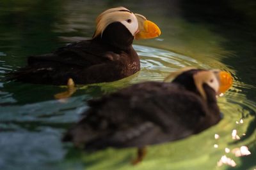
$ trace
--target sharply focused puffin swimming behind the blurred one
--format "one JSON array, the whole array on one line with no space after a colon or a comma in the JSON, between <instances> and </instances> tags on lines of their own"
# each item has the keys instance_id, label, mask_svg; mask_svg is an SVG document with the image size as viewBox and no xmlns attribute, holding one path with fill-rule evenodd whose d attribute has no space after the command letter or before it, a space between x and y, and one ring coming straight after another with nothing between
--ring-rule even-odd
<instances>
[{"instance_id":1,"label":"sharply focused puffin swimming behind the blurred one","mask_svg":"<svg viewBox=\"0 0 256 170\"><path fill-rule=\"evenodd\" d=\"M116 81L140 71L134 39L156 38L159 27L143 15L124 7L111 8L96 19L92 39L58 48L52 53L28 57L28 64L8 73L8 80L67 85Z\"/></svg>"}]
</instances>

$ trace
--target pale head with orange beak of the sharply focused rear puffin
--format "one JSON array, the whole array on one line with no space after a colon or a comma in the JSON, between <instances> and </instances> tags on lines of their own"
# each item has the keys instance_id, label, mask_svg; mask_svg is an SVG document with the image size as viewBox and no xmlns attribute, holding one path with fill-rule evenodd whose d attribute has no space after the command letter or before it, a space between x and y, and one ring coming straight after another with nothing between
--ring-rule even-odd
<instances>
[{"instance_id":1,"label":"pale head with orange beak of the sharply focused rear puffin","mask_svg":"<svg viewBox=\"0 0 256 170\"><path fill-rule=\"evenodd\" d=\"M102 36L106 28L113 23L124 25L135 39L156 38L161 34L159 27L143 15L132 13L124 7L117 7L106 10L97 17L93 38ZM115 31L113 30L113 33Z\"/></svg>"}]
</instances>

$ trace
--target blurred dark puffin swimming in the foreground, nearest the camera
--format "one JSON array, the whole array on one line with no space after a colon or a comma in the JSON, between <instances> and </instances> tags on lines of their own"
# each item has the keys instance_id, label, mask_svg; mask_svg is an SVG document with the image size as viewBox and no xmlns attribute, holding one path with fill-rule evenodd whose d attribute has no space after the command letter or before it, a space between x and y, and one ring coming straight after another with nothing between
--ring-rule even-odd
<instances>
[{"instance_id":1,"label":"blurred dark puffin swimming in the foreground, nearest the camera","mask_svg":"<svg viewBox=\"0 0 256 170\"><path fill-rule=\"evenodd\" d=\"M172 81L170 81L172 80ZM63 136L86 150L138 148L198 134L221 120L217 96L232 85L232 76L218 69L186 67L161 81L137 83L88 101L90 108Z\"/></svg>"}]
</instances>

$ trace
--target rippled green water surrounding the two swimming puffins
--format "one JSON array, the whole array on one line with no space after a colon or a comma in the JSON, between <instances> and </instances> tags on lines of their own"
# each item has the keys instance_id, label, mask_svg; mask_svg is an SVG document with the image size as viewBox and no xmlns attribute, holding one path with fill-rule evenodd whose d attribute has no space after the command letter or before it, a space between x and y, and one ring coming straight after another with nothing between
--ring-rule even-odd
<instances>
[{"instance_id":1,"label":"rippled green water surrounding the two swimming puffins","mask_svg":"<svg viewBox=\"0 0 256 170\"><path fill-rule=\"evenodd\" d=\"M90 38L95 17L113 6L141 13L161 28L157 39L134 41L140 73L81 86L63 102L54 94L65 87L4 81L4 73L25 66L28 55ZM256 169L255 7L254 1L238 0L1 0L0 169ZM63 132L88 109L86 100L132 83L162 81L184 66L219 68L234 76L232 89L218 99L220 124L180 141L148 147L147 157L135 167L130 164L135 148L86 153L61 143ZM232 139L234 129L240 139ZM214 134L220 138L214 139ZM241 146L248 146L251 154L236 157L232 150ZM223 155L236 166L218 166Z\"/></svg>"}]
</instances>

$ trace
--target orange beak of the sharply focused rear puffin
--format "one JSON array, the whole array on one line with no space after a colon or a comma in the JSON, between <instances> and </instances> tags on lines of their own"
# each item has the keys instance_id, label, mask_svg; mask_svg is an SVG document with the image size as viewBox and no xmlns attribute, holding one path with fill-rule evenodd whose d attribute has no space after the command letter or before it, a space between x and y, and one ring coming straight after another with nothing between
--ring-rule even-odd
<instances>
[{"instance_id":1,"label":"orange beak of the sharply focused rear puffin","mask_svg":"<svg viewBox=\"0 0 256 170\"><path fill-rule=\"evenodd\" d=\"M161 31L154 22L144 20L142 24L139 24L139 32L135 34L135 39L156 38L157 36L160 36L160 34Z\"/></svg>"}]
</instances>

